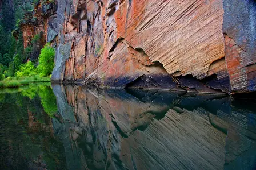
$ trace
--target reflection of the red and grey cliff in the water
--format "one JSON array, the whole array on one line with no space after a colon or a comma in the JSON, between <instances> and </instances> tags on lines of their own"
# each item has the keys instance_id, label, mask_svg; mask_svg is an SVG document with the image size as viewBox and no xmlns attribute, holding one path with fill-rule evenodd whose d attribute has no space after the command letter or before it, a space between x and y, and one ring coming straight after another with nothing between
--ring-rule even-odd
<instances>
[{"instance_id":1,"label":"reflection of the red and grey cliff in the water","mask_svg":"<svg viewBox=\"0 0 256 170\"><path fill-rule=\"evenodd\" d=\"M241 111L225 96L53 90L53 128L69 169L233 169L243 161L255 167L255 111Z\"/></svg>"}]
</instances>

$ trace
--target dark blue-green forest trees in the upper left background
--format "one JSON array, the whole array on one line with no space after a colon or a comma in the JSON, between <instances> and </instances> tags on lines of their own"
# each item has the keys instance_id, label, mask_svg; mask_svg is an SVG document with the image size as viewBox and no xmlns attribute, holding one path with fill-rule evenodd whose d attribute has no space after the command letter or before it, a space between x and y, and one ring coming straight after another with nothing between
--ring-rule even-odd
<instances>
[{"instance_id":1,"label":"dark blue-green forest trees in the upper left background","mask_svg":"<svg viewBox=\"0 0 256 170\"><path fill-rule=\"evenodd\" d=\"M11 4L13 3L13 4ZM18 32L18 40L12 35L12 31L19 27L26 11L33 10L30 0L3 0L0 19L0 64L8 76L14 76L22 63L25 63L23 55L23 36ZM18 30L18 29L17 29Z\"/></svg>"}]
</instances>

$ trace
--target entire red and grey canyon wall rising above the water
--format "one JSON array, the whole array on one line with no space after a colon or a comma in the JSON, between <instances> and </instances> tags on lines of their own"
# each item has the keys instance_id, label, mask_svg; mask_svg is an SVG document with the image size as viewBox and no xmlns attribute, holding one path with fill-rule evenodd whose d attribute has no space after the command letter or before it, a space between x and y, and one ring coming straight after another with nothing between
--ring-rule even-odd
<instances>
[{"instance_id":1,"label":"entire red and grey canyon wall rising above the water","mask_svg":"<svg viewBox=\"0 0 256 170\"><path fill-rule=\"evenodd\" d=\"M58 0L52 81L205 93L256 90L256 3ZM50 4L50 2L49 2Z\"/></svg>"}]
</instances>

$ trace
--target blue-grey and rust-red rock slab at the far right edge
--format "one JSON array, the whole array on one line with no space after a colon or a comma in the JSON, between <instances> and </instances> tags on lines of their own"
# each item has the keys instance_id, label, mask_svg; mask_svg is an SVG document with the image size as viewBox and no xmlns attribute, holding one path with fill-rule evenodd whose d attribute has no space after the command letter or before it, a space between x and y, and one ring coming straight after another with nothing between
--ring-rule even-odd
<instances>
[{"instance_id":1,"label":"blue-grey and rust-red rock slab at the far right edge","mask_svg":"<svg viewBox=\"0 0 256 170\"><path fill-rule=\"evenodd\" d=\"M233 93L256 90L256 2L223 0L225 58Z\"/></svg>"}]
</instances>

